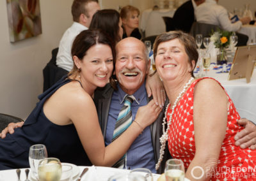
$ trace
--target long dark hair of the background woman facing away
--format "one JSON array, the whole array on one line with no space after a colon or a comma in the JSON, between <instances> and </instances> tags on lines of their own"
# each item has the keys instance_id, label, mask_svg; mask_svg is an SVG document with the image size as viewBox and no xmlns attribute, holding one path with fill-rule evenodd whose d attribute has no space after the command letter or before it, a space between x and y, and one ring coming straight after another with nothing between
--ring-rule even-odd
<instances>
[{"instance_id":1,"label":"long dark hair of the background woman facing away","mask_svg":"<svg viewBox=\"0 0 256 181\"><path fill-rule=\"evenodd\" d=\"M89 29L102 29L117 43L121 40L119 21L120 15L118 11L111 9L99 10L93 15Z\"/></svg>"}]
</instances>

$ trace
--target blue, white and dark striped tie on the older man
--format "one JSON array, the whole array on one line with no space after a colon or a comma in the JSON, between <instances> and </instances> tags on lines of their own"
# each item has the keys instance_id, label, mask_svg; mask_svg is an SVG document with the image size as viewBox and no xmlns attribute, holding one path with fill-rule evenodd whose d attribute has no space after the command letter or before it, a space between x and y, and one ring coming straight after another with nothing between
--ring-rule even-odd
<instances>
[{"instance_id":1,"label":"blue, white and dark striped tie on the older man","mask_svg":"<svg viewBox=\"0 0 256 181\"><path fill-rule=\"evenodd\" d=\"M134 96L126 95L124 98L124 106L122 107L115 124L115 130L112 142L116 140L132 123L131 104L134 101ZM115 168L124 168L126 154L113 165Z\"/></svg>"}]
</instances>

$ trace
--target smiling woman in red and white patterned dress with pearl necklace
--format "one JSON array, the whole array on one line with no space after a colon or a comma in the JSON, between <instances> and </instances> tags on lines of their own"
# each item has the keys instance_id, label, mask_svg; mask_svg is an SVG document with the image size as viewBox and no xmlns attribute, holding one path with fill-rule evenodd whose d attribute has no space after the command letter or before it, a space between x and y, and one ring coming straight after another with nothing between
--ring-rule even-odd
<instances>
[{"instance_id":1,"label":"smiling woman in red and white patterned dress with pearl necklace","mask_svg":"<svg viewBox=\"0 0 256 181\"><path fill-rule=\"evenodd\" d=\"M170 100L160 153L168 140L170 154L183 161L190 180L253 180L256 150L234 146L236 133L243 129L234 103L213 78L193 76L195 39L182 31L161 34L154 58Z\"/></svg>"}]
</instances>

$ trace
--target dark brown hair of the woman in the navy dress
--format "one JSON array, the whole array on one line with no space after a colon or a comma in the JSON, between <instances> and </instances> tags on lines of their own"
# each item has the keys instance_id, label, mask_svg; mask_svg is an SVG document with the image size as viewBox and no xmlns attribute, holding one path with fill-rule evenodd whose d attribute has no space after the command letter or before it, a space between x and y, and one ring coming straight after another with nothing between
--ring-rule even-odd
<instances>
[{"instance_id":1,"label":"dark brown hair of the woman in the navy dress","mask_svg":"<svg viewBox=\"0 0 256 181\"><path fill-rule=\"evenodd\" d=\"M71 48L71 54L72 57L76 55L80 61L83 61L83 57L86 55L86 52L97 44L103 44L108 45L111 48L112 54L113 54L113 66L115 67L115 45L113 41L110 40L108 34L104 33L104 31L98 29L98 30L84 30L81 33L79 33L72 45ZM76 64L74 63L74 66L70 73L68 73L68 76L74 75L74 78L79 75L80 70L77 68Z\"/></svg>"}]
</instances>

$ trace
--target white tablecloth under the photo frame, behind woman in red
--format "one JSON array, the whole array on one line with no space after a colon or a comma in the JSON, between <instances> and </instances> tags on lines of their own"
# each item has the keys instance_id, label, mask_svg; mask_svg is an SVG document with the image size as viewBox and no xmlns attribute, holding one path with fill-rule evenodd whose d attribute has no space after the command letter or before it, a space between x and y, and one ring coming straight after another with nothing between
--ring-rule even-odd
<instances>
[{"instance_id":1,"label":"white tablecloth under the photo frame, behind woman in red","mask_svg":"<svg viewBox=\"0 0 256 181\"><path fill-rule=\"evenodd\" d=\"M256 69L250 83L246 83L245 78L228 80L228 73L216 73L217 71L211 69L207 76L215 78L223 85L242 118L256 123Z\"/></svg>"}]
</instances>

